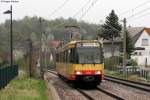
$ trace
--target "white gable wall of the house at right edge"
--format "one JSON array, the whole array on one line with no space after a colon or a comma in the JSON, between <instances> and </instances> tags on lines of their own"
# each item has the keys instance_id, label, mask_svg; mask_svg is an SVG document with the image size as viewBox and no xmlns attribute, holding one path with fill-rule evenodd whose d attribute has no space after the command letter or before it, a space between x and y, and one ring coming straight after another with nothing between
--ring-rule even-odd
<instances>
[{"instance_id":1,"label":"white gable wall of the house at right edge","mask_svg":"<svg viewBox=\"0 0 150 100\"><path fill-rule=\"evenodd\" d=\"M142 46L142 39L148 39L148 46ZM135 47L142 47L145 48L145 50L134 51L137 55L132 55L131 58L136 60L138 65L142 66L145 66L147 59L147 65L150 65L150 36L146 31L143 31L139 39L136 41Z\"/></svg>"}]
</instances>

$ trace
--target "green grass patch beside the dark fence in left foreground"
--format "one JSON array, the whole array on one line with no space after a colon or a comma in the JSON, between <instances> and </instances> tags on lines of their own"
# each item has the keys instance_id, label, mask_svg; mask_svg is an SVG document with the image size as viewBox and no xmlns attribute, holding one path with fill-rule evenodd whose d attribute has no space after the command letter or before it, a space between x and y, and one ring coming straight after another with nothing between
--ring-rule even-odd
<instances>
[{"instance_id":1,"label":"green grass patch beside the dark fence in left foreground","mask_svg":"<svg viewBox=\"0 0 150 100\"><path fill-rule=\"evenodd\" d=\"M48 100L45 83L20 75L0 91L0 100Z\"/></svg>"}]
</instances>

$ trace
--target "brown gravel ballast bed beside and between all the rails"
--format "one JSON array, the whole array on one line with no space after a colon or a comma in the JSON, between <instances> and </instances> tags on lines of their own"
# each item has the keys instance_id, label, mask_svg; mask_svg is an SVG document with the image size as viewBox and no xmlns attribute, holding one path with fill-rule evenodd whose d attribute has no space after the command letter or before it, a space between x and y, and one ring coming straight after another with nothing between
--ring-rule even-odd
<instances>
[{"instance_id":1,"label":"brown gravel ballast bed beside and between all the rails","mask_svg":"<svg viewBox=\"0 0 150 100\"><path fill-rule=\"evenodd\" d=\"M48 73L48 80L56 89L61 100L87 100L76 89L68 86L62 79ZM104 80L101 88L107 89L125 100L150 100L150 93L135 88ZM83 91L95 100L115 100L114 98L98 91L97 89L83 89Z\"/></svg>"}]
</instances>

